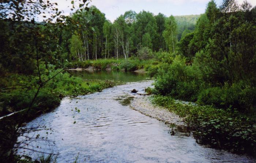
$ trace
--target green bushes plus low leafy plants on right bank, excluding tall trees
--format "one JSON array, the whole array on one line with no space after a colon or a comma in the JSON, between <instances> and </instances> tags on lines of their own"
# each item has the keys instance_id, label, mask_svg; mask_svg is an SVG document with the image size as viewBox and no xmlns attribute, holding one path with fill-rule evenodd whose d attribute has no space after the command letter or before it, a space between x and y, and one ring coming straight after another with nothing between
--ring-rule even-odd
<instances>
[{"instance_id":1,"label":"green bushes plus low leafy plants on right bank, excluding tall trees","mask_svg":"<svg viewBox=\"0 0 256 163\"><path fill-rule=\"evenodd\" d=\"M216 82L221 78L213 75L219 74L207 65L202 68L197 58L191 64L178 54L158 52L157 57L158 64L145 68L156 78L153 102L185 117L199 143L255 155L255 78Z\"/></svg>"}]
</instances>

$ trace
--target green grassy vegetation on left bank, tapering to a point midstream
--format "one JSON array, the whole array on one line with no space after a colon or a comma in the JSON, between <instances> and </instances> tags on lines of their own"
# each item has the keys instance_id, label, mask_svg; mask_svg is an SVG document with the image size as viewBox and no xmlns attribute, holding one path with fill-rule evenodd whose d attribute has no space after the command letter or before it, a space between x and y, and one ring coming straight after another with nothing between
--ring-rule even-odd
<instances>
[{"instance_id":1,"label":"green grassy vegetation on left bank, tapering to a point midstream","mask_svg":"<svg viewBox=\"0 0 256 163\"><path fill-rule=\"evenodd\" d=\"M51 73L54 74L54 72ZM37 79L32 78L33 76L9 74L1 79L2 84L8 85L8 88L15 88L19 84L30 86L25 91L23 89L3 89L0 92L1 115L29 107L37 91L37 87L35 87ZM85 95L122 83L113 80L83 80L80 77L71 76L68 72L63 72L44 85L39 91L33 107L54 108L64 96Z\"/></svg>"}]
</instances>

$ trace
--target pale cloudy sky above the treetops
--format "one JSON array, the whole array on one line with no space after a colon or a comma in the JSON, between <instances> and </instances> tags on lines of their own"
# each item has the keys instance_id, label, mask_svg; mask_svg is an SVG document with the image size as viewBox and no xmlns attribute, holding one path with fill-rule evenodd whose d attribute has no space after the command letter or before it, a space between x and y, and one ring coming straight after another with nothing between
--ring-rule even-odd
<instances>
[{"instance_id":1,"label":"pale cloudy sky above the treetops","mask_svg":"<svg viewBox=\"0 0 256 163\"><path fill-rule=\"evenodd\" d=\"M59 9L69 15L71 10L68 8L70 0L52 0L59 4ZM106 15L106 18L112 22L125 11L133 10L140 12L142 10L153 12L157 15L159 12L170 15L196 15L202 14L205 11L206 5L210 0L91 0L90 5L95 5L101 12ZM222 0L215 0L217 5L222 3ZM237 0L242 3L243 0ZM253 6L256 5L256 0L247 0Z\"/></svg>"}]
</instances>

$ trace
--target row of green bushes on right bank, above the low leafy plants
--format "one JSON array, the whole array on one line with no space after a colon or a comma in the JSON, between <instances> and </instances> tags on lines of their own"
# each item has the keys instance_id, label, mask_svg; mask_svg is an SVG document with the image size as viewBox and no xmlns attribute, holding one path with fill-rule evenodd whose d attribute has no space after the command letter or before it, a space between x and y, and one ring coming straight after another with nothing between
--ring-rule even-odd
<instances>
[{"instance_id":1,"label":"row of green bushes on right bank, above the low leafy plants","mask_svg":"<svg viewBox=\"0 0 256 163\"><path fill-rule=\"evenodd\" d=\"M196 65L187 65L186 60L178 56L172 64L161 63L157 68L147 68L151 73L156 73L157 94L200 105L214 105L223 109L231 106L242 113L256 113L256 87L249 81L207 83Z\"/></svg>"}]
</instances>

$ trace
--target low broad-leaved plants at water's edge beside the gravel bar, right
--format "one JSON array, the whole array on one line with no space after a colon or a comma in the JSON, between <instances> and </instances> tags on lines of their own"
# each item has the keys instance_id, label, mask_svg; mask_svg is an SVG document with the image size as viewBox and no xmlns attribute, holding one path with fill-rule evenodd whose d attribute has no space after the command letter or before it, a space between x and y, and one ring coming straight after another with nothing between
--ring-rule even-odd
<instances>
[{"instance_id":1,"label":"low broad-leaved plants at water's edge beside the gravel bar, right","mask_svg":"<svg viewBox=\"0 0 256 163\"><path fill-rule=\"evenodd\" d=\"M170 96L154 95L152 102L184 117L199 143L255 155L255 119L236 110L181 104Z\"/></svg>"}]
</instances>

